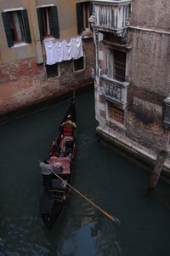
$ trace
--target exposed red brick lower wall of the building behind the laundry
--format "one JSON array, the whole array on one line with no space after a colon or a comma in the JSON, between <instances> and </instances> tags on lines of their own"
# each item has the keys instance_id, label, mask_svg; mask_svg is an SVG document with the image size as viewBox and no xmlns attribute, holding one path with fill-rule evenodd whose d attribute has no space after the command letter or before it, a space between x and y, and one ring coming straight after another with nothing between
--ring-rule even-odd
<instances>
[{"instance_id":1,"label":"exposed red brick lower wall of the building behind the laundry","mask_svg":"<svg viewBox=\"0 0 170 256\"><path fill-rule=\"evenodd\" d=\"M0 114L14 111L60 96L93 83L91 67L94 67L94 42L83 42L86 68L73 73L73 61L59 64L59 78L47 79L44 65L37 65L35 59L16 61L0 66Z\"/></svg>"}]
</instances>

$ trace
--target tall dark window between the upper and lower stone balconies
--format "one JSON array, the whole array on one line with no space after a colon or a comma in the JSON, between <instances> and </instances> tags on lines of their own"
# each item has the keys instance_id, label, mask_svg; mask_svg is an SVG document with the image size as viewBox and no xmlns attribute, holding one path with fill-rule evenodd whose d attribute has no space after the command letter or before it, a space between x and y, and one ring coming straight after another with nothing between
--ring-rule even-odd
<instances>
[{"instance_id":1,"label":"tall dark window between the upper and lower stone balconies","mask_svg":"<svg viewBox=\"0 0 170 256\"><path fill-rule=\"evenodd\" d=\"M108 77L110 77L111 79L117 79L122 82L125 81L126 53L116 49L108 50Z\"/></svg>"}]
</instances>

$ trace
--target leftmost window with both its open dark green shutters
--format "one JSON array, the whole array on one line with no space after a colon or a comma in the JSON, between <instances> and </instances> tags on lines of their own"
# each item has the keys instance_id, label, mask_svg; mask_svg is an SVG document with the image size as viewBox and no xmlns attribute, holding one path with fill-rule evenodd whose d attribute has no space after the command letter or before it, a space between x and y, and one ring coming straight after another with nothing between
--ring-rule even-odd
<instances>
[{"instance_id":1,"label":"leftmost window with both its open dark green shutters","mask_svg":"<svg viewBox=\"0 0 170 256\"><path fill-rule=\"evenodd\" d=\"M8 47L16 43L31 44L31 33L26 9L2 13Z\"/></svg>"}]
</instances>

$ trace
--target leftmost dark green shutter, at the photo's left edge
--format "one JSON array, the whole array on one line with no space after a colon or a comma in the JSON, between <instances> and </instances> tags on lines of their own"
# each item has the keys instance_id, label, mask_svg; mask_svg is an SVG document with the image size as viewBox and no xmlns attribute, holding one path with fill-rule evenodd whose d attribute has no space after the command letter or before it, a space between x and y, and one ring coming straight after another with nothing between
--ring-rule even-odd
<instances>
[{"instance_id":1,"label":"leftmost dark green shutter, at the photo's left edge","mask_svg":"<svg viewBox=\"0 0 170 256\"><path fill-rule=\"evenodd\" d=\"M9 13L2 13L3 16L3 25L7 37L8 47L12 47L14 45L13 35L10 28L10 14Z\"/></svg>"}]
</instances>

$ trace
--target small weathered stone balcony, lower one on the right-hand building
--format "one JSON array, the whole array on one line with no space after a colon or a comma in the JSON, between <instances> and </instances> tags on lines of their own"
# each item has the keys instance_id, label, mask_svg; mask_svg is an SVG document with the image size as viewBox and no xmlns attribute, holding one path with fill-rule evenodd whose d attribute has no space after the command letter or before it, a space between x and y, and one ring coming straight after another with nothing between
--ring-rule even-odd
<instances>
[{"instance_id":1,"label":"small weathered stone balcony, lower one on the right-hand building","mask_svg":"<svg viewBox=\"0 0 170 256\"><path fill-rule=\"evenodd\" d=\"M102 80L102 96L117 107L126 108L129 83L110 79L106 75L102 75L100 79Z\"/></svg>"}]
</instances>

